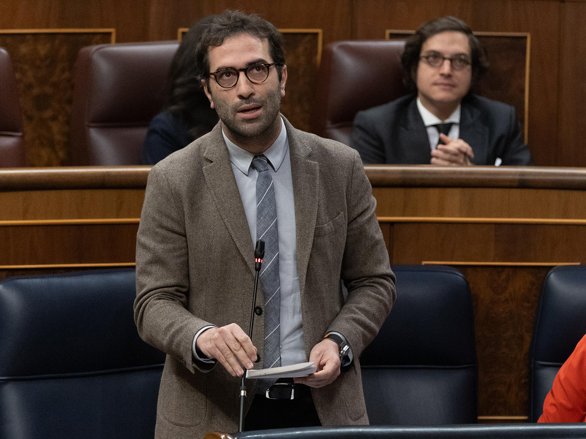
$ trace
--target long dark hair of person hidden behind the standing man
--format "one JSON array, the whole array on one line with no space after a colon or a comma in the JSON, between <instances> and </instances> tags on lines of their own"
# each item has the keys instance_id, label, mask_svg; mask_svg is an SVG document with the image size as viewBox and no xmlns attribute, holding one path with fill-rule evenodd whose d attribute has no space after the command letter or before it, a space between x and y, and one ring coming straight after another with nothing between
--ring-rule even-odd
<instances>
[{"instance_id":1,"label":"long dark hair of person hidden behind the standing man","mask_svg":"<svg viewBox=\"0 0 586 439\"><path fill-rule=\"evenodd\" d=\"M197 43L216 15L202 18L183 35L169 70L165 108L185 122L193 139L212 131L218 116L203 91L200 64L196 60Z\"/></svg>"}]
</instances>

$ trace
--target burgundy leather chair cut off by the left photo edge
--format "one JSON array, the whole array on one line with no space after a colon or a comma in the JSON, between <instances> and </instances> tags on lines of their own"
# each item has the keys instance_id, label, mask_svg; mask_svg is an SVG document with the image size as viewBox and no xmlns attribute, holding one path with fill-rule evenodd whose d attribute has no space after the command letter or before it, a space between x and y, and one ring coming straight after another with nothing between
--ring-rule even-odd
<instances>
[{"instance_id":1,"label":"burgundy leather chair cut off by the left photo edge","mask_svg":"<svg viewBox=\"0 0 586 439\"><path fill-rule=\"evenodd\" d=\"M21 106L6 49L0 47L0 167L25 166Z\"/></svg>"}]
</instances>

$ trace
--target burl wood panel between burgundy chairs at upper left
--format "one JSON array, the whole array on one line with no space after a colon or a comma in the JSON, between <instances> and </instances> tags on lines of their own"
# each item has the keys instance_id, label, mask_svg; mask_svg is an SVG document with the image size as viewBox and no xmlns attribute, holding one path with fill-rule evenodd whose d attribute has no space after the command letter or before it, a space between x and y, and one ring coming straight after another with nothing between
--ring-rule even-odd
<instances>
[{"instance_id":1,"label":"burl wood panel between burgundy chairs at upper left","mask_svg":"<svg viewBox=\"0 0 586 439\"><path fill-rule=\"evenodd\" d=\"M0 30L0 46L12 58L29 166L67 162L77 52L91 44L112 43L114 34L114 29Z\"/></svg>"}]
</instances>

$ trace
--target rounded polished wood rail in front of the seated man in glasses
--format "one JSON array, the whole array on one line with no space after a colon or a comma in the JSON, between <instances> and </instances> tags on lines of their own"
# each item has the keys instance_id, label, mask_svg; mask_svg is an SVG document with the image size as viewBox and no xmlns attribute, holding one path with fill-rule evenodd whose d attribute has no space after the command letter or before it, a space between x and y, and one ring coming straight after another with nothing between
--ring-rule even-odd
<instances>
[{"instance_id":1,"label":"rounded polished wood rail in front of the seated man in glasses","mask_svg":"<svg viewBox=\"0 0 586 439\"><path fill-rule=\"evenodd\" d=\"M586 189L586 170L578 167L366 164L364 170L373 187Z\"/></svg>"}]
</instances>

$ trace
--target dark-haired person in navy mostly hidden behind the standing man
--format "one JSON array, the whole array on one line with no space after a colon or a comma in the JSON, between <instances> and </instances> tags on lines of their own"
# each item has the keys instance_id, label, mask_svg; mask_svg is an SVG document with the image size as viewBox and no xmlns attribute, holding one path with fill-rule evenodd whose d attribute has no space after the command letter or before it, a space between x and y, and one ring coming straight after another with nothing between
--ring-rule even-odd
<instances>
[{"instance_id":1,"label":"dark-haired person in navy mostly hidden behind the standing man","mask_svg":"<svg viewBox=\"0 0 586 439\"><path fill-rule=\"evenodd\" d=\"M142 164L155 164L193 140L212 131L217 124L216 111L210 108L195 58L197 43L215 16L199 20L187 32L171 61L169 89L165 109L148 126L142 147Z\"/></svg>"}]
</instances>

